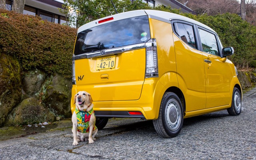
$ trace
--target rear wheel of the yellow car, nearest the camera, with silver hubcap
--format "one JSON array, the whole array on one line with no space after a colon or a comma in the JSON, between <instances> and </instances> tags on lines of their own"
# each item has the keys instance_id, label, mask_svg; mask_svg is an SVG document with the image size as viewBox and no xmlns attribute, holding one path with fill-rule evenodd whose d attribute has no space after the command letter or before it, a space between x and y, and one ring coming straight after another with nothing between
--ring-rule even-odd
<instances>
[{"instance_id":1,"label":"rear wheel of the yellow car, nearest the camera, with silver hubcap","mask_svg":"<svg viewBox=\"0 0 256 160\"><path fill-rule=\"evenodd\" d=\"M153 120L156 132L164 137L176 137L183 125L183 107L180 98L173 92L166 92L162 98L158 119Z\"/></svg>"}]
</instances>

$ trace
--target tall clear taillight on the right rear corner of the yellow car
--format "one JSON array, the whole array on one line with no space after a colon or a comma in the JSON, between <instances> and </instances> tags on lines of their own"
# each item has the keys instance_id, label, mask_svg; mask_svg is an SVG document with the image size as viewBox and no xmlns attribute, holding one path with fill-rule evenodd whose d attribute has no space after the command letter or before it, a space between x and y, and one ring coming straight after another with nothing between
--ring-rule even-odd
<instances>
[{"instance_id":1,"label":"tall clear taillight on the right rear corner of the yellow car","mask_svg":"<svg viewBox=\"0 0 256 160\"><path fill-rule=\"evenodd\" d=\"M145 78L158 77L158 61L156 39L152 38L145 43L146 46L146 73Z\"/></svg>"}]
</instances>

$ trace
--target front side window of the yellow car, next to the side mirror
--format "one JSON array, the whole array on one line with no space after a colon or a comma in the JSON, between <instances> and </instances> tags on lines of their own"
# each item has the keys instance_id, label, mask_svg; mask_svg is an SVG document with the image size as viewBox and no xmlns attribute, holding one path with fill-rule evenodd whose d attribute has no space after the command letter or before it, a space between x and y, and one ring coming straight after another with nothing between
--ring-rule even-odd
<instances>
[{"instance_id":1,"label":"front side window of the yellow car, next to the side mirror","mask_svg":"<svg viewBox=\"0 0 256 160\"><path fill-rule=\"evenodd\" d=\"M218 44L215 35L200 28L198 28L198 32L200 35L203 51L210 54L214 54L216 56L220 56L220 53L218 52Z\"/></svg>"}]
</instances>

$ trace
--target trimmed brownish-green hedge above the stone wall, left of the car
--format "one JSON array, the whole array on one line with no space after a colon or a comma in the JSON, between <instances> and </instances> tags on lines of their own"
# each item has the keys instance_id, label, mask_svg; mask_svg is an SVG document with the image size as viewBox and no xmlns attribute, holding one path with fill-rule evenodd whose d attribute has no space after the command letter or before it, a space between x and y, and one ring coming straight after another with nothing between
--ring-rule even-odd
<instances>
[{"instance_id":1,"label":"trimmed brownish-green hedge above the stone wall, left of the car","mask_svg":"<svg viewBox=\"0 0 256 160\"><path fill-rule=\"evenodd\" d=\"M0 54L12 55L23 70L42 69L71 77L76 29L39 16L0 10Z\"/></svg>"}]
</instances>

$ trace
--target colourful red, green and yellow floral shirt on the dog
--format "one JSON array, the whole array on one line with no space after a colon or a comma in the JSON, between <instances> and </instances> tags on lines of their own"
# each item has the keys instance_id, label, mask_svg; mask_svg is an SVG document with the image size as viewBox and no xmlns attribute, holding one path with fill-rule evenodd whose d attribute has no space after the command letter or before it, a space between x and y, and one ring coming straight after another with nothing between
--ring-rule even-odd
<instances>
[{"instance_id":1,"label":"colourful red, green and yellow floral shirt on the dog","mask_svg":"<svg viewBox=\"0 0 256 160\"><path fill-rule=\"evenodd\" d=\"M89 121L91 114L94 114L93 110L86 112L86 110L75 109L77 117L77 131L81 133L89 133ZM96 130L95 122L93 130Z\"/></svg>"}]
</instances>

